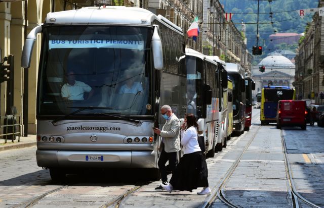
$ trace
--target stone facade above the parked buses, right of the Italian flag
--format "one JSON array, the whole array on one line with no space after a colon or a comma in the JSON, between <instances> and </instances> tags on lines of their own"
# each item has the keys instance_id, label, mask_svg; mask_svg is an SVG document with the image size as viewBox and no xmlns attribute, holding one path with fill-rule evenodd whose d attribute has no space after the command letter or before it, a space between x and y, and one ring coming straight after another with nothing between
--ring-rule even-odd
<instances>
[{"instance_id":1,"label":"stone facade above the parked buses, right of the Italian flag","mask_svg":"<svg viewBox=\"0 0 324 208\"><path fill-rule=\"evenodd\" d=\"M204 1L203 14L203 53L240 64L250 75L252 55L247 50L241 31L232 21L226 21L226 11L220 2Z\"/></svg>"}]
</instances>

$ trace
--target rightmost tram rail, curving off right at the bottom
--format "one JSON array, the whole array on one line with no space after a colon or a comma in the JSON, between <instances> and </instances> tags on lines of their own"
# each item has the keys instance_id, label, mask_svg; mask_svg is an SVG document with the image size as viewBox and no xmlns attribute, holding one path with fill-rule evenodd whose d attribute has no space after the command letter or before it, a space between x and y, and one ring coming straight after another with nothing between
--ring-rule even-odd
<instances>
[{"instance_id":1,"label":"rightmost tram rail, curving off right at the bottom","mask_svg":"<svg viewBox=\"0 0 324 208\"><path fill-rule=\"evenodd\" d=\"M285 153L286 174L287 174L287 178L288 178L289 186L290 186L289 191L292 195L294 207L299 207L299 200L306 203L307 205L310 205L311 207L317 207L317 208L321 207L321 206L318 206L318 205L314 204L313 202L307 200L302 195L300 195L299 192L297 191L295 183L294 183L294 179L293 179L292 170L290 167L285 136L284 136L284 134L282 134L282 130L280 130L280 135L281 135L282 148L284 149L284 153Z\"/></svg>"}]
</instances>

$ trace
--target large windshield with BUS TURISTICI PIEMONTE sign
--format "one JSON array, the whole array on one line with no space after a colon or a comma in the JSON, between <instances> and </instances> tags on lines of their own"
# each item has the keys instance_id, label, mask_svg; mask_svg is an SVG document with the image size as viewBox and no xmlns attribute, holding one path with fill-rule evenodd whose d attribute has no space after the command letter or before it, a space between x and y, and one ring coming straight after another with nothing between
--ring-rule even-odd
<instances>
[{"instance_id":1,"label":"large windshield with BUS TURISTICI PIEMONTE sign","mask_svg":"<svg viewBox=\"0 0 324 208\"><path fill-rule=\"evenodd\" d=\"M38 115L148 115L151 29L121 26L44 28Z\"/></svg>"}]
</instances>

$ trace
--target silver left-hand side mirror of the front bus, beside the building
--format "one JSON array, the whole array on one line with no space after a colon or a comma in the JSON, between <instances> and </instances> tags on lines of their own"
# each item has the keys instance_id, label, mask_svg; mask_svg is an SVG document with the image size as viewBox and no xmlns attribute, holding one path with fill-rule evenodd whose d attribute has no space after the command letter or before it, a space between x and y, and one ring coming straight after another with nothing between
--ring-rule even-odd
<instances>
[{"instance_id":1,"label":"silver left-hand side mirror of the front bus, beside the building","mask_svg":"<svg viewBox=\"0 0 324 208\"><path fill-rule=\"evenodd\" d=\"M42 32L42 30L43 30L42 25L38 25L34 27L34 29L32 29L30 33L27 35L24 48L22 49L22 54L21 54L21 63L20 63L21 67L23 68L30 67L32 49L34 48L34 44L37 39L37 33Z\"/></svg>"}]
</instances>

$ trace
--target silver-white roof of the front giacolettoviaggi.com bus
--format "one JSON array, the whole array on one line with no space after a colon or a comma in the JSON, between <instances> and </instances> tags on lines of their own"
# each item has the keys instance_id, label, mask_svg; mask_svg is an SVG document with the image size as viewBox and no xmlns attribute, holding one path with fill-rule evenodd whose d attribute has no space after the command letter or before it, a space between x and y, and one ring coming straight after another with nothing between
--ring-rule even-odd
<instances>
[{"instance_id":1,"label":"silver-white roof of the front giacolettoviaggi.com bus","mask_svg":"<svg viewBox=\"0 0 324 208\"><path fill-rule=\"evenodd\" d=\"M149 25L154 19L164 22L182 33L182 29L165 17L156 16L152 12L136 7L84 7L78 10L67 10L48 13L45 24L124 24Z\"/></svg>"}]
</instances>

